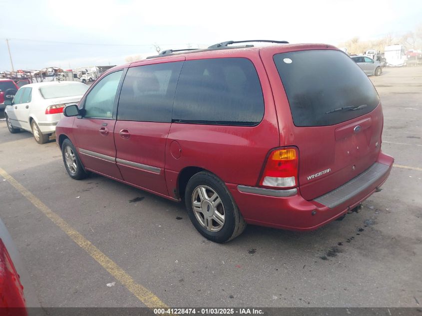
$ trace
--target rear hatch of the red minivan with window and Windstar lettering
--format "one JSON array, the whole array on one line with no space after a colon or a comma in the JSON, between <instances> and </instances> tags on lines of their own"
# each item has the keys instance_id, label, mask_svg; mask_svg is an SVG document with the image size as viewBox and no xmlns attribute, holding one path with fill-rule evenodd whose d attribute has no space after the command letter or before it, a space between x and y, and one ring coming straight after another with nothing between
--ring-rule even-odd
<instances>
[{"instance_id":1,"label":"rear hatch of the red minivan with window and Windstar lettering","mask_svg":"<svg viewBox=\"0 0 422 316\"><path fill-rule=\"evenodd\" d=\"M281 144L299 148L300 192L312 200L376 162L380 99L367 75L340 50L290 51L273 59L293 119L288 134L290 128L280 126ZM278 115L285 112L286 107L278 109Z\"/></svg>"}]
</instances>

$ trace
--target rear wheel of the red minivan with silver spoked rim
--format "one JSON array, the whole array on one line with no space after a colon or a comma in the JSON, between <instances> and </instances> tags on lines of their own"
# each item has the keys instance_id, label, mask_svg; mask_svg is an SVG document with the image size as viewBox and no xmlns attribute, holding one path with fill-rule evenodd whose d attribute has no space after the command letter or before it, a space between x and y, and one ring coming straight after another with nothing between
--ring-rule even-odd
<instances>
[{"instance_id":1,"label":"rear wheel of the red minivan with silver spoked rim","mask_svg":"<svg viewBox=\"0 0 422 316\"><path fill-rule=\"evenodd\" d=\"M228 242L246 227L227 187L212 173L202 171L190 178L185 203L193 226L213 242Z\"/></svg>"}]
</instances>

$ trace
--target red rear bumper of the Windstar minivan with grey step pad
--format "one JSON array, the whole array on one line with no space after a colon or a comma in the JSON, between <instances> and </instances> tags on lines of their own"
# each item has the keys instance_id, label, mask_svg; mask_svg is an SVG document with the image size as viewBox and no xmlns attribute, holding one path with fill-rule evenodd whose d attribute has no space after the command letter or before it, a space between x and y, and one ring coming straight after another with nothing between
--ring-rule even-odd
<instances>
[{"instance_id":1,"label":"red rear bumper of the Windstar minivan with grey step pad","mask_svg":"<svg viewBox=\"0 0 422 316\"><path fill-rule=\"evenodd\" d=\"M242 186L241 191L235 184L227 186L247 223L287 230L314 230L370 197L387 180L393 162L393 157L381 152L368 170L311 201L301 196L300 188L292 196L278 197L242 192Z\"/></svg>"}]
</instances>

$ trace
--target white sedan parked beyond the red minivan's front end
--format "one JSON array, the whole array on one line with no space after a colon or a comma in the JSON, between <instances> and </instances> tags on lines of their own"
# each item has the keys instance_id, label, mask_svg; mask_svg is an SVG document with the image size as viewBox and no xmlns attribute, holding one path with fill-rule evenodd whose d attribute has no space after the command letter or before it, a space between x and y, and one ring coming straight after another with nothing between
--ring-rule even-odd
<instances>
[{"instance_id":1,"label":"white sedan parked beyond the red minivan's front end","mask_svg":"<svg viewBox=\"0 0 422 316\"><path fill-rule=\"evenodd\" d=\"M46 143L55 133L63 108L77 104L87 89L80 82L41 82L21 87L12 100L4 101L9 132L24 129L33 134L38 144Z\"/></svg>"}]
</instances>

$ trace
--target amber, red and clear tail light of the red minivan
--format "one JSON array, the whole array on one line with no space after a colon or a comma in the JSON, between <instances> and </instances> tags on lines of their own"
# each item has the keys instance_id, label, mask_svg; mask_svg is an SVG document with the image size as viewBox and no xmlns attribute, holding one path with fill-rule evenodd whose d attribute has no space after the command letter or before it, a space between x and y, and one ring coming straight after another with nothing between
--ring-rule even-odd
<instances>
[{"instance_id":1,"label":"amber, red and clear tail light of the red minivan","mask_svg":"<svg viewBox=\"0 0 422 316\"><path fill-rule=\"evenodd\" d=\"M273 150L268 156L260 186L294 188L298 186L299 155L296 148Z\"/></svg>"}]
</instances>

